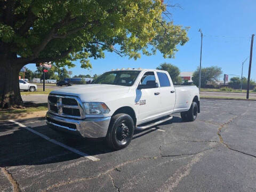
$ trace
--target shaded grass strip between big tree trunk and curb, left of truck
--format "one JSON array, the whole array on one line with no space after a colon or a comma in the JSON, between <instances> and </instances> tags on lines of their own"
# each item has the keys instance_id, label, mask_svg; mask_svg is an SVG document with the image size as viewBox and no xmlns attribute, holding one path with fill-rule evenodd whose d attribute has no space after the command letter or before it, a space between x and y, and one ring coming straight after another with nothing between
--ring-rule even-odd
<instances>
[{"instance_id":1,"label":"shaded grass strip between big tree trunk and curb, left of truck","mask_svg":"<svg viewBox=\"0 0 256 192\"><path fill-rule=\"evenodd\" d=\"M25 108L21 108L21 109L0 109L0 116L48 110L47 103L24 103L24 104L25 104Z\"/></svg>"}]
</instances>

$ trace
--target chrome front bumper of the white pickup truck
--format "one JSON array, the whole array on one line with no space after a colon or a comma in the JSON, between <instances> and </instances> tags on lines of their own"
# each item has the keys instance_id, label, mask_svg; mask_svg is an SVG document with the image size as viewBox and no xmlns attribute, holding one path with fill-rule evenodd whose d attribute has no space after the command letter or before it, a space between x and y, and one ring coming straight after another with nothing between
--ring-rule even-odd
<instances>
[{"instance_id":1,"label":"chrome front bumper of the white pickup truck","mask_svg":"<svg viewBox=\"0 0 256 192\"><path fill-rule=\"evenodd\" d=\"M69 119L46 113L46 123L50 127L86 138L106 137L111 117Z\"/></svg>"}]
</instances>

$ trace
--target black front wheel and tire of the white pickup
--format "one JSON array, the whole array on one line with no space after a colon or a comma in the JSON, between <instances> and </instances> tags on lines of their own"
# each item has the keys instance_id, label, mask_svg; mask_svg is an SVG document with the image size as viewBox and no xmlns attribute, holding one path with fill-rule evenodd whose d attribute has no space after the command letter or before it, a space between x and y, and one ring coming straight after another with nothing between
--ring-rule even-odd
<instances>
[{"instance_id":1,"label":"black front wheel and tire of the white pickup","mask_svg":"<svg viewBox=\"0 0 256 192\"><path fill-rule=\"evenodd\" d=\"M130 115L116 114L111 118L106 142L111 149L119 150L127 147L134 133L134 123Z\"/></svg>"}]
</instances>

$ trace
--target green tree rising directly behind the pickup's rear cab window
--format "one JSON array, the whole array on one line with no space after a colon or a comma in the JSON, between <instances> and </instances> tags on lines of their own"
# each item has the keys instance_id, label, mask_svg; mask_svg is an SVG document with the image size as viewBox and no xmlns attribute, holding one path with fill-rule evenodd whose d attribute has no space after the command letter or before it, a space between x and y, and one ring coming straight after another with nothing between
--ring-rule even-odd
<instances>
[{"instance_id":1,"label":"green tree rising directly behind the pickup's rear cab window","mask_svg":"<svg viewBox=\"0 0 256 192\"><path fill-rule=\"evenodd\" d=\"M180 69L170 63L162 63L159 67L157 67L156 69L158 70L166 70L169 75L172 78L172 82L175 84L181 84L182 83L182 79L179 76L180 75Z\"/></svg>"}]
</instances>

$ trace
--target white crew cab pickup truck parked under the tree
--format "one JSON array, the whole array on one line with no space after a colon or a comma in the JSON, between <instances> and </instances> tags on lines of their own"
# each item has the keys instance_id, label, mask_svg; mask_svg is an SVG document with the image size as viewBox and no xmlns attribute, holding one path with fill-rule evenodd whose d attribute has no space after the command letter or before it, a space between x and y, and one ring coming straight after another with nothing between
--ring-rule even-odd
<instances>
[{"instance_id":1,"label":"white crew cab pickup truck parked under the tree","mask_svg":"<svg viewBox=\"0 0 256 192\"><path fill-rule=\"evenodd\" d=\"M52 91L46 122L51 128L82 135L105 137L118 150L132 140L134 129L146 129L181 113L194 121L200 113L196 86L174 87L166 71L117 69L99 76L92 84Z\"/></svg>"}]
</instances>

